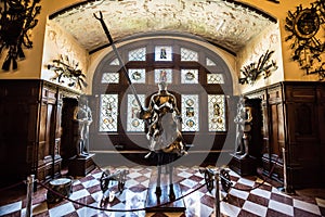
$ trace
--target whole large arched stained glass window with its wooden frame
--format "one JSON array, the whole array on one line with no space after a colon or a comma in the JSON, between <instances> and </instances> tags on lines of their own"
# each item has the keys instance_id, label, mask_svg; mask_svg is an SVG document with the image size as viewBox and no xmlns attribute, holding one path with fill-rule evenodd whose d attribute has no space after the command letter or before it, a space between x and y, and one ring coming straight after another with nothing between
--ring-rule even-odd
<instances>
[{"instance_id":1,"label":"whole large arched stained glass window with its wooden frame","mask_svg":"<svg viewBox=\"0 0 325 217\"><path fill-rule=\"evenodd\" d=\"M129 135L146 132L146 125L136 116L141 107L126 76L143 107L158 91L158 82L168 84L177 98L185 139L194 133L226 133L225 95L232 94L232 80L217 53L193 42L166 38L126 43L118 51L127 73L110 52L99 64L93 80L93 92L99 95L99 110L93 115L98 116L94 123L99 133L118 135L116 143L130 143Z\"/></svg>"}]
</instances>

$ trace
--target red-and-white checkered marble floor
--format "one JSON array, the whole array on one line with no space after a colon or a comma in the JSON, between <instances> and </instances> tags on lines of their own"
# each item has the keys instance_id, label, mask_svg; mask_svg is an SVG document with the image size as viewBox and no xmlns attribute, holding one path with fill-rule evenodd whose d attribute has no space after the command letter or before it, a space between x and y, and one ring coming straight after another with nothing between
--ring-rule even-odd
<instances>
[{"instance_id":1,"label":"red-and-white checkered marble floor","mask_svg":"<svg viewBox=\"0 0 325 217\"><path fill-rule=\"evenodd\" d=\"M86 177L75 179L69 199L98 208L119 210L144 208L150 179L156 173L156 168L138 166L106 169L112 173L120 169L129 171L125 190L121 193L118 192L117 182L112 182L109 186L109 190L116 192L112 202L106 202L101 206L103 192L100 188L100 178L104 169L100 168ZM222 216L325 216L324 199L287 195L266 182L262 183L262 180L256 176L244 178L230 170L230 177L234 188L227 194L221 190L220 209ZM173 181L180 184L183 195L205 183L198 167L174 168ZM248 191L248 189L257 186L260 187ZM0 194L2 193L0 192ZM54 204L47 203L47 190L41 188L34 193L32 216L214 216L214 190L210 193L204 187L183 200L186 206L184 213L104 212L72 203L68 200ZM0 216L25 216L25 214L26 195L11 200L10 203L0 203Z\"/></svg>"}]
</instances>

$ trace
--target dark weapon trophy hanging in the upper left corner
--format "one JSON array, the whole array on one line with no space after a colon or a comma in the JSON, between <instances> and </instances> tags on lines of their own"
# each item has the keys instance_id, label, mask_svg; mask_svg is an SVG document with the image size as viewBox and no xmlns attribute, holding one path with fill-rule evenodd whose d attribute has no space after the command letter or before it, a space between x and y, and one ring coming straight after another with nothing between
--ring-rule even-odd
<instances>
[{"instance_id":1,"label":"dark weapon trophy hanging in the upper left corner","mask_svg":"<svg viewBox=\"0 0 325 217\"><path fill-rule=\"evenodd\" d=\"M36 5L40 0L0 0L0 54L8 49L2 64L3 71L17 68L17 59L25 59L23 46L32 48L28 30L32 29L38 20L41 7Z\"/></svg>"}]
</instances>

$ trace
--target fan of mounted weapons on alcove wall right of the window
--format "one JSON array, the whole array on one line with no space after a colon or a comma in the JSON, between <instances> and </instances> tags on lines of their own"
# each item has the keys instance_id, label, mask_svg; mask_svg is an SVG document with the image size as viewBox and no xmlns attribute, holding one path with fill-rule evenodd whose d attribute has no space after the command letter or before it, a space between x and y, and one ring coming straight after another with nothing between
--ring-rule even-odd
<instances>
[{"instance_id":1,"label":"fan of mounted weapons on alcove wall right of the window","mask_svg":"<svg viewBox=\"0 0 325 217\"><path fill-rule=\"evenodd\" d=\"M244 66L244 68L240 69L240 73L244 75L244 77L239 78L239 84L252 85L261 74L265 79L271 75L272 71L276 71L277 66L275 61L272 60L270 63L270 59L274 51L268 50L260 56L258 63L250 63L249 65Z\"/></svg>"}]
</instances>

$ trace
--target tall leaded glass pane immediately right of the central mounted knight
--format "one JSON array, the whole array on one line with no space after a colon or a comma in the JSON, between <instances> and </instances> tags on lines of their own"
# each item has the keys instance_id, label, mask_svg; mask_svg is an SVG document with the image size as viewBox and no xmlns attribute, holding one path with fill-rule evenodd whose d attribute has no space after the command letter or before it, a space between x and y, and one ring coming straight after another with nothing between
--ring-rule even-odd
<instances>
[{"instance_id":1,"label":"tall leaded glass pane immediately right of the central mounted knight","mask_svg":"<svg viewBox=\"0 0 325 217\"><path fill-rule=\"evenodd\" d=\"M198 131L199 102L197 94L182 94L182 131Z\"/></svg>"}]
</instances>

